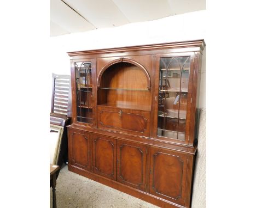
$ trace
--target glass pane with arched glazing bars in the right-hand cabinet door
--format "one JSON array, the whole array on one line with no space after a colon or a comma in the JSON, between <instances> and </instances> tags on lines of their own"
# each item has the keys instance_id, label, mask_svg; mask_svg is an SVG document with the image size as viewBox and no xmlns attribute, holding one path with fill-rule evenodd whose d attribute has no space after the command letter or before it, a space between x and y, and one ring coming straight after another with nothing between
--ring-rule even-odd
<instances>
[{"instance_id":1,"label":"glass pane with arched glazing bars in the right-hand cabinet door","mask_svg":"<svg viewBox=\"0 0 256 208\"><path fill-rule=\"evenodd\" d=\"M190 57L160 58L158 136L185 140Z\"/></svg>"}]
</instances>

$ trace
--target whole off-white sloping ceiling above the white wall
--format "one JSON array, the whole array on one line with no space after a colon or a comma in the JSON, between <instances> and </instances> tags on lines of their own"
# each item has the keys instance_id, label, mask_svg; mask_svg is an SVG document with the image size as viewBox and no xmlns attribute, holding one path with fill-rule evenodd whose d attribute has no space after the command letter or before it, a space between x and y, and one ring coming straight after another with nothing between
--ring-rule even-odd
<instances>
[{"instance_id":1,"label":"whole off-white sloping ceiling above the white wall","mask_svg":"<svg viewBox=\"0 0 256 208\"><path fill-rule=\"evenodd\" d=\"M206 9L206 0L50 0L50 35L85 32Z\"/></svg>"}]
</instances>

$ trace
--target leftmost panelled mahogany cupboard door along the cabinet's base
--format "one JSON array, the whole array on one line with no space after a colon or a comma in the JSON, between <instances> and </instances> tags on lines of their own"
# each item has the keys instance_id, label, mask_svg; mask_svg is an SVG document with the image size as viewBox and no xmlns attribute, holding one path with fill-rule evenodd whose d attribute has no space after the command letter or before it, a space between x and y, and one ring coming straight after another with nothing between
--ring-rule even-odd
<instances>
[{"instance_id":1,"label":"leftmost panelled mahogany cupboard door along the cabinet's base","mask_svg":"<svg viewBox=\"0 0 256 208\"><path fill-rule=\"evenodd\" d=\"M90 134L80 130L69 129L68 151L72 166L91 170Z\"/></svg>"}]
</instances>

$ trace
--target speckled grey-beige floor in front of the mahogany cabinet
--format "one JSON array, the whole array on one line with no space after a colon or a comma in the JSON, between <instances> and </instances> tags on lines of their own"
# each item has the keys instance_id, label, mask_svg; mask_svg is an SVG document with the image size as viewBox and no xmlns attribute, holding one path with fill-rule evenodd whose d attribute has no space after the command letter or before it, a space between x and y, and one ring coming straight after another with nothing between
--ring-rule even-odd
<instances>
[{"instance_id":1,"label":"speckled grey-beige floor in front of the mahogany cabinet","mask_svg":"<svg viewBox=\"0 0 256 208\"><path fill-rule=\"evenodd\" d=\"M56 186L57 208L157 208L141 199L102 185L62 167ZM50 188L50 207L53 194Z\"/></svg>"}]
</instances>

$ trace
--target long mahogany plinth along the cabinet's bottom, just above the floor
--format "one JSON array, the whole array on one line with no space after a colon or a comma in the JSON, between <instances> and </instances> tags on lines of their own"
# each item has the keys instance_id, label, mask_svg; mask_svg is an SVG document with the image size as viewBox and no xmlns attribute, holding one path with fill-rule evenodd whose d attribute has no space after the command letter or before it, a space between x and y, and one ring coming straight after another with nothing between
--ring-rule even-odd
<instances>
[{"instance_id":1,"label":"long mahogany plinth along the cabinet's bottom, just above the floor","mask_svg":"<svg viewBox=\"0 0 256 208\"><path fill-rule=\"evenodd\" d=\"M132 195L133 197L142 199L144 201L147 201L148 203L154 204L156 206L159 207L163 207L163 208L185 208L184 206L175 204L175 203L171 203L171 201L167 201L165 199L161 199L159 197L156 197L155 195L152 195L150 193L147 192L143 192L140 191L136 188L132 188L130 186L126 186L123 183L117 182L117 181L113 181L107 178L104 178L103 176L97 175L95 173L91 173L89 171L86 171L84 169L75 167L71 164L68 164L68 170L73 172L73 173L77 173L79 175L85 176L88 179L94 180L96 182L102 183L103 185L112 187L114 189L117 189L118 191L127 193Z\"/></svg>"}]
</instances>

